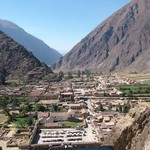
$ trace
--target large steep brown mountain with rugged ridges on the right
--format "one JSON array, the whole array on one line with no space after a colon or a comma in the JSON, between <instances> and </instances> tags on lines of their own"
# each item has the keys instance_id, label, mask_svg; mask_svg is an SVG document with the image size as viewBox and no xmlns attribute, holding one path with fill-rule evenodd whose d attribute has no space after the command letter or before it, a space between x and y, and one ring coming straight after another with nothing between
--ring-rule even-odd
<instances>
[{"instance_id":1,"label":"large steep brown mountain with rugged ridges on the right","mask_svg":"<svg viewBox=\"0 0 150 150\"><path fill-rule=\"evenodd\" d=\"M54 70L150 71L150 1L132 0L52 65Z\"/></svg>"}]
</instances>

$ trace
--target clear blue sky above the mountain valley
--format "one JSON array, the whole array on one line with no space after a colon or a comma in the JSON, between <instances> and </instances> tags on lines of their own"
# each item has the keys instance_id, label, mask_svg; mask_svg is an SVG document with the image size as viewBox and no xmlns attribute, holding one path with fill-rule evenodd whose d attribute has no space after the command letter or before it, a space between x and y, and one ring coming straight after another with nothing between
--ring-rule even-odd
<instances>
[{"instance_id":1,"label":"clear blue sky above the mountain valley","mask_svg":"<svg viewBox=\"0 0 150 150\"><path fill-rule=\"evenodd\" d=\"M0 0L0 19L11 21L67 53L130 0Z\"/></svg>"}]
</instances>

